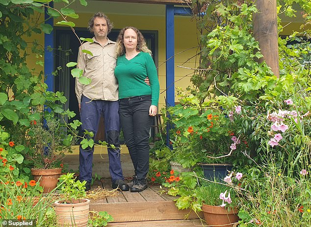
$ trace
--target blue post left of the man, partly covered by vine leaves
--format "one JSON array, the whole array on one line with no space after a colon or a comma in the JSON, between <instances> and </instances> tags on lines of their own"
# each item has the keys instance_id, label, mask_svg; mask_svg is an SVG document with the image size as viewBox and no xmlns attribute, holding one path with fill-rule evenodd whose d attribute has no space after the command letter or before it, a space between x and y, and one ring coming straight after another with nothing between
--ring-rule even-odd
<instances>
[{"instance_id":1,"label":"blue post left of the man, partly covered by vine leaves","mask_svg":"<svg viewBox=\"0 0 311 227\"><path fill-rule=\"evenodd\" d=\"M50 2L50 6L53 7L53 2ZM47 20L50 15L47 13L48 9L45 7L44 19ZM53 27L54 20L50 18L46 23ZM51 51L51 49L52 51ZM51 34L44 34L44 75L45 83L48 85L48 91L54 91L54 76L52 75L54 68L54 30ZM50 50L48 50L50 49Z\"/></svg>"}]
</instances>

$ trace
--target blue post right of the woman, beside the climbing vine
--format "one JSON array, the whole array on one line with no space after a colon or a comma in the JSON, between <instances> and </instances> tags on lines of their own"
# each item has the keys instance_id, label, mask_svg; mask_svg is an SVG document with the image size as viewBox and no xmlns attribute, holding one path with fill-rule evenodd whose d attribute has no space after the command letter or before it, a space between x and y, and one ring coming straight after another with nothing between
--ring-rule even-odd
<instances>
[{"instance_id":1,"label":"blue post right of the woman, beside the climbing vine","mask_svg":"<svg viewBox=\"0 0 311 227\"><path fill-rule=\"evenodd\" d=\"M166 106L175 106L175 31L174 31L174 5L166 5ZM169 116L168 116L169 117ZM169 130L166 125L166 143L169 146Z\"/></svg>"}]
</instances>

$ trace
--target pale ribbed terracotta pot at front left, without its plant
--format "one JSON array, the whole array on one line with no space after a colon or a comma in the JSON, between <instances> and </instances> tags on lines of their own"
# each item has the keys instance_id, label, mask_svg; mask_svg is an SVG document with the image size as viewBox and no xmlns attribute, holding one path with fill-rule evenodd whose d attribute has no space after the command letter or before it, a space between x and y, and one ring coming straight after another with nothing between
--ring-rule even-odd
<instances>
[{"instance_id":1,"label":"pale ribbed terracotta pot at front left, without its plant","mask_svg":"<svg viewBox=\"0 0 311 227\"><path fill-rule=\"evenodd\" d=\"M86 227L89 219L90 200L81 199L80 203L74 201L65 204L61 201L54 203L56 211L56 221L60 226Z\"/></svg>"}]
</instances>

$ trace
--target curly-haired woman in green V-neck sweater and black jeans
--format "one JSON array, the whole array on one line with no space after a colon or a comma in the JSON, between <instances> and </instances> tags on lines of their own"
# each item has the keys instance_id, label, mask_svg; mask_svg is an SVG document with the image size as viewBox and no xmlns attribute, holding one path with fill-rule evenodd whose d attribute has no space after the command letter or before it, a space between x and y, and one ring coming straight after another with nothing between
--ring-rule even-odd
<instances>
[{"instance_id":1,"label":"curly-haired woman in green V-neck sweater and black jeans","mask_svg":"<svg viewBox=\"0 0 311 227\"><path fill-rule=\"evenodd\" d=\"M147 188L149 131L156 115L159 81L145 39L135 27L125 27L117 39L118 57L114 74L119 82L119 114L135 175L128 183L131 192ZM150 86L144 80L148 76Z\"/></svg>"}]
</instances>

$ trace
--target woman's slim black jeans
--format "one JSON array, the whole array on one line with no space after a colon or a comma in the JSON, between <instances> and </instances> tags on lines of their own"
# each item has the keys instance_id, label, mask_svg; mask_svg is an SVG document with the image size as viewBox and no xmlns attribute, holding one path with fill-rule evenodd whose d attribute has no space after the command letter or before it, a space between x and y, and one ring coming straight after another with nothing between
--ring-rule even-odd
<instances>
[{"instance_id":1,"label":"woman's slim black jeans","mask_svg":"<svg viewBox=\"0 0 311 227\"><path fill-rule=\"evenodd\" d=\"M135 175L138 180L143 180L149 171L151 95L122 98L119 104L121 127L134 165Z\"/></svg>"}]
</instances>

